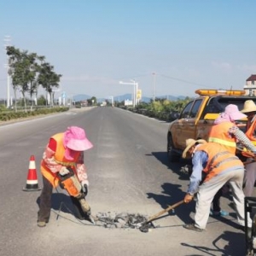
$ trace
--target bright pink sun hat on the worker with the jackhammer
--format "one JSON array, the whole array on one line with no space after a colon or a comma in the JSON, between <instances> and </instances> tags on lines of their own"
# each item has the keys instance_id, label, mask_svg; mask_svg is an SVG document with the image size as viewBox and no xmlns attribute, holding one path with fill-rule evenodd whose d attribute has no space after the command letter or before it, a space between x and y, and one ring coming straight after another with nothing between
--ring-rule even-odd
<instances>
[{"instance_id":1,"label":"bright pink sun hat on the worker with the jackhammer","mask_svg":"<svg viewBox=\"0 0 256 256\"><path fill-rule=\"evenodd\" d=\"M84 151L93 147L84 129L78 126L70 126L64 132L64 146L74 151Z\"/></svg>"}]
</instances>

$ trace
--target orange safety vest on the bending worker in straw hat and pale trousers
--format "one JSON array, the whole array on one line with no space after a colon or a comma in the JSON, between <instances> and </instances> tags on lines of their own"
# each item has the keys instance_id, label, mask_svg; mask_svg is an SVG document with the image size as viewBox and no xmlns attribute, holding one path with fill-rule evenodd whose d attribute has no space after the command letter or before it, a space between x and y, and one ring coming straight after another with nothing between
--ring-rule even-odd
<instances>
[{"instance_id":1,"label":"orange safety vest on the bending worker in straw hat and pale trousers","mask_svg":"<svg viewBox=\"0 0 256 256\"><path fill-rule=\"evenodd\" d=\"M225 150L225 148L218 143L201 144L195 151L205 151L208 154L207 166L203 170L203 172L207 174L204 182L227 169L232 168L232 170L236 170L238 168L244 168L241 160L239 160L235 154Z\"/></svg>"}]
</instances>

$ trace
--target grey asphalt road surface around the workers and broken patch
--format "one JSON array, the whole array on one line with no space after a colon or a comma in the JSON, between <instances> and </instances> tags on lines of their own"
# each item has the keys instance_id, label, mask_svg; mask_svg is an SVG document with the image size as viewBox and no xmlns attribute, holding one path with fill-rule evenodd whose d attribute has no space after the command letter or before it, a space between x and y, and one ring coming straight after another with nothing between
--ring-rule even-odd
<instances>
[{"instance_id":1,"label":"grey asphalt road surface around the workers and broken patch","mask_svg":"<svg viewBox=\"0 0 256 256\"><path fill-rule=\"evenodd\" d=\"M37 226L40 191L25 192L29 160L39 163L51 135L67 126L85 129L94 148L84 154L90 178L93 214L129 212L150 217L183 199L189 177L182 163L166 159L168 123L119 108L75 109L44 118L0 126L0 255L245 255L244 233L238 229L230 195L221 203L227 218L209 218L207 230L183 229L195 214L195 202L154 221L155 229L108 229L73 217L70 200L61 189L53 195L45 228Z\"/></svg>"}]
</instances>

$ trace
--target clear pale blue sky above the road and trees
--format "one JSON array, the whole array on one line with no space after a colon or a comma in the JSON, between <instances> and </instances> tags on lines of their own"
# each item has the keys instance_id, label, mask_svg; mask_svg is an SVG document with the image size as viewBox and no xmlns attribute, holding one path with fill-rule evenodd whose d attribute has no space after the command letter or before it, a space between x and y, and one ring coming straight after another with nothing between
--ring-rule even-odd
<instances>
[{"instance_id":1,"label":"clear pale blue sky above the road and trees","mask_svg":"<svg viewBox=\"0 0 256 256\"><path fill-rule=\"evenodd\" d=\"M254 0L3 0L0 37L44 55L68 96L131 93L119 84L131 79L143 96L195 96L242 90L256 74L255 9ZM2 46L0 98L6 58Z\"/></svg>"}]
</instances>

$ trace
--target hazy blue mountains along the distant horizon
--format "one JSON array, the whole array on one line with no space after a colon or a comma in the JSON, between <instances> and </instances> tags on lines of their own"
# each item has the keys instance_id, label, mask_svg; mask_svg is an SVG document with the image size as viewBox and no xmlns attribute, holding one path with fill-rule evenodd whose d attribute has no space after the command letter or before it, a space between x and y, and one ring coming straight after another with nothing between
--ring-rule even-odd
<instances>
[{"instance_id":1,"label":"hazy blue mountains along the distant horizon","mask_svg":"<svg viewBox=\"0 0 256 256\"><path fill-rule=\"evenodd\" d=\"M85 95L85 94L79 94L76 96L73 96L73 100L75 102L80 102L80 101L85 101L87 99L90 99L92 96L89 95ZM169 101L177 101L178 99L183 100L184 98L186 98L186 96L172 96L172 95L165 95L165 96L157 96L156 98L160 98L160 99L168 99ZM104 101L111 101L110 97L106 97L106 98L97 98L97 102L104 102ZM132 100L132 96L131 93L126 93L124 95L120 95L120 96L113 96L113 102L124 102L127 100ZM150 102L152 100L152 97L145 97L143 96L141 99L141 102Z\"/></svg>"}]
</instances>

